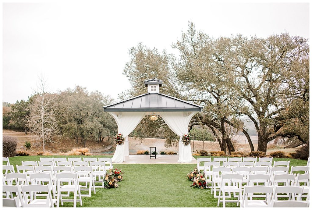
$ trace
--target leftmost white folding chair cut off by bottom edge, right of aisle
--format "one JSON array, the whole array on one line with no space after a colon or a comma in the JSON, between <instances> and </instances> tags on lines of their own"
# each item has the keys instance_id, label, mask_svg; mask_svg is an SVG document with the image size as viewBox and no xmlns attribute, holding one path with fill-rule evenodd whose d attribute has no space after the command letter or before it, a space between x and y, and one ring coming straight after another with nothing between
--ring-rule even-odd
<instances>
[{"instance_id":1,"label":"leftmost white folding chair cut off by bottom edge, right of aisle","mask_svg":"<svg viewBox=\"0 0 312 210\"><path fill-rule=\"evenodd\" d=\"M261 174L262 175L262 174ZM273 188L269 186L245 186L243 197L240 202L241 207L268 207L269 201L271 200ZM252 198L259 198L260 196L255 196L254 193L262 193L261 197L265 200L253 200ZM248 200L249 198L249 200Z\"/></svg>"}]
</instances>

